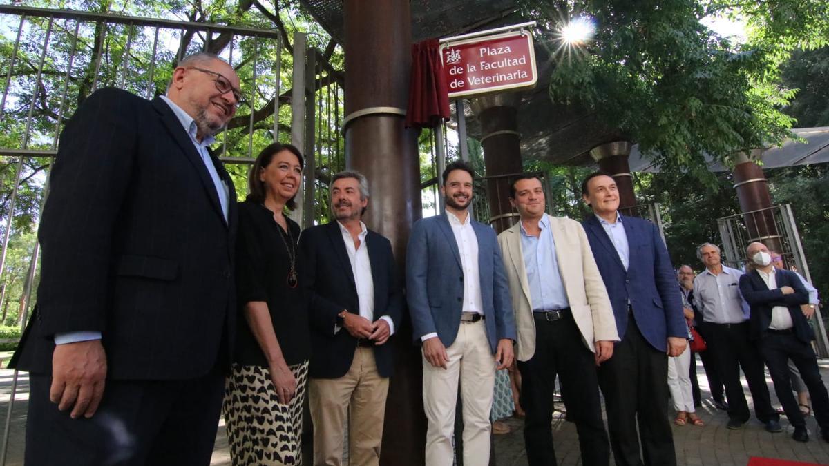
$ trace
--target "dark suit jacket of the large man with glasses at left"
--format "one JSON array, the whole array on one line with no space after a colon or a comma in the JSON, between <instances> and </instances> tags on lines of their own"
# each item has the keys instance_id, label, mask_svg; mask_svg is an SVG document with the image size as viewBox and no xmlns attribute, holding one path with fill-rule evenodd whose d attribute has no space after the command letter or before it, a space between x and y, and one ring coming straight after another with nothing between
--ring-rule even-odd
<instances>
[{"instance_id":1,"label":"dark suit jacket of the large man with glasses at left","mask_svg":"<svg viewBox=\"0 0 829 466\"><path fill-rule=\"evenodd\" d=\"M107 378L181 380L230 362L236 193L228 221L182 123L160 98L90 95L66 124L38 239L37 306L17 348L51 373L56 333L99 331Z\"/></svg>"}]
</instances>

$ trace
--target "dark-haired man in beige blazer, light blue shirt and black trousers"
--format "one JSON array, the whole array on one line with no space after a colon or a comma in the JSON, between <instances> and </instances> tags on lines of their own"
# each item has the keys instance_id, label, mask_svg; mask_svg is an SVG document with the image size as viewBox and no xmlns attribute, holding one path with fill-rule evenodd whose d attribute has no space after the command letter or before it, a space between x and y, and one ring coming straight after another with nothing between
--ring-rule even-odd
<instances>
[{"instance_id":1,"label":"dark-haired man in beige blazer, light blue shirt and black trousers","mask_svg":"<svg viewBox=\"0 0 829 466\"><path fill-rule=\"evenodd\" d=\"M558 375L582 463L606 466L610 446L596 366L613 355L619 337L602 276L581 224L545 214L538 177L518 177L510 202L521 221L498 235L498 244L516 314L528 464L556 464L550 421Z\"/></svg>"}]
</instances>

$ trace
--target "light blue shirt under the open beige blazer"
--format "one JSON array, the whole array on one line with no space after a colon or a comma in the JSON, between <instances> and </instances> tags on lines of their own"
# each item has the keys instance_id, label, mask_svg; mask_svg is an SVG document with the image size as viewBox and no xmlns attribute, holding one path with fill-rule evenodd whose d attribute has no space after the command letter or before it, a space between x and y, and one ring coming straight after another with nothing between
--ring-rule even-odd
<instances>
[{"instance_id":1,"label":"light blue shirt under the open beige blazer","mask_svg":"<svg viewBox=\"0 0 829 466\"><path fill-rule=\"evenodd\" d=\"M521 250L524 253L526 279L530 284L533 310L563 309L570 307L564 282L561 280L559 262L555 258L555 240L550 231L550 219L541 217L538 222L541 234L536 238L527 235L521 225Z\"/></svg>"}]
</instances>

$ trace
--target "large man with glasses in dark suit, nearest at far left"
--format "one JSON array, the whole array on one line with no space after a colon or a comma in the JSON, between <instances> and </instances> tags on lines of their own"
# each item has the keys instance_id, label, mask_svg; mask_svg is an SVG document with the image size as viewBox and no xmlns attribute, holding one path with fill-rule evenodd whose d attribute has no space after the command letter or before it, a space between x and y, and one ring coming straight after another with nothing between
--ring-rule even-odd
<instances>
[{"instance_id":1,"label":"large man with glasses in dark suit, nearest at far left","mask_svg":"<svg viewBox=\"0 0 829 466\"><path fill-rule=\"evenodd\" d=\"M235 191L209 150L239 77L188 56L152 102L98 90L61 134L39 240L27 464L209 464L235 333ZM50 402L51 401L51 402Z\"/></svg>"}]
</instances>

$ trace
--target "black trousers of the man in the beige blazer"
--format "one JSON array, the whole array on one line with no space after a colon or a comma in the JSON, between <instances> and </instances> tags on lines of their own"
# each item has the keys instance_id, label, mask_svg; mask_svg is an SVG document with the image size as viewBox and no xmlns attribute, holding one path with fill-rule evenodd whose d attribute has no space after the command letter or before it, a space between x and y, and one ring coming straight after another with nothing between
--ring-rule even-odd
<instances>
[{"instance_id":1,"label":"black trousers of the man in the beige blazer","mask_svg":"<svg viewBox=\"0 0 829 466\"><path fill-rule=\"evenodd\" d=\"M536 318L536 353L518 362L521 371L521 406L526 411L524 442L530 466L555 466L553 414L555 376L567 392L567 414L579 434L585 466L610 462L608 434L604 430L599 381L593 352L584 346L579 328L568 312L559 320Z\"/></svg>"}]
</instances>

